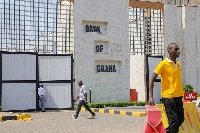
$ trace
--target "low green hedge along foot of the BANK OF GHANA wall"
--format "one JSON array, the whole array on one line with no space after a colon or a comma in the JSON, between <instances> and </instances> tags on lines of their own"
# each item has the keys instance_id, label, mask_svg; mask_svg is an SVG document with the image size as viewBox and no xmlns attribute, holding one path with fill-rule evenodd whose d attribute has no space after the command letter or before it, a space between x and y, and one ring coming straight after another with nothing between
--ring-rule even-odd
<instances>
[{"instance_id":1,"label":"low green hedge along foot of the BANK OF GHANA wall","mask_svg":"<svg viewBox=\"0 0 200 133\"><path fill-rule=\"evenodd\" d=\"M145 106L145 102L105 102L105 103L88 103L90 108L104 108L104 107L127 107L127 106Z\"/></svg>"}]
</instances>

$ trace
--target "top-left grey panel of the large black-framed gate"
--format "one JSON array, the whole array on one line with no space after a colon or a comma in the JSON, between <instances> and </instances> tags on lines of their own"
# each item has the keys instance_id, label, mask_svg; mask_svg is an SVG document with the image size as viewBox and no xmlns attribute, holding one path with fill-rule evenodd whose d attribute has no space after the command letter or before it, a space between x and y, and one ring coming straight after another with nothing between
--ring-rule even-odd
<instances>
[{"instance_id":1,"label":"top-left grey panel of the large black-framed gate","mask_svg":"<svg viewBox=\"0 0 200 133\"><path fill-rule=\"evenodd\" d=\"M2 80L36 80L36 55L2 54Z\"/></svg>"}]
</instances>

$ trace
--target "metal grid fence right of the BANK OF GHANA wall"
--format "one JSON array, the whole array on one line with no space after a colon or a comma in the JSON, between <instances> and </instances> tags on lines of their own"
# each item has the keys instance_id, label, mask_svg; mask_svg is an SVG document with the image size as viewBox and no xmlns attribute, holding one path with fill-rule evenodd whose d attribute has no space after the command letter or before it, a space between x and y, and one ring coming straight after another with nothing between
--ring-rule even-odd
<instances>
[{"instance_id":1,"label":"metal grid fence right of the BANK OF GHANA wall","mask_svg":"<svg viewBox=\"0 0 200 133\"><path fill-rule=\"evenodd\" d=\"M130 53L164 54L163 11L129 8Z\"/></svg>"}]
</instances>

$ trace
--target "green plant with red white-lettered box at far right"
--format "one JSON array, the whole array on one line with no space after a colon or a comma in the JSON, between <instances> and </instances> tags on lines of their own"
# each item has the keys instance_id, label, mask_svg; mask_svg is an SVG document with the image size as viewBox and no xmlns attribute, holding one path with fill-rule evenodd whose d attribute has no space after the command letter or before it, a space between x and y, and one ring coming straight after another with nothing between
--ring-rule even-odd
<instances>
[{"instance_id":1,"label":"green plant with red white-lettered box at far right","mask_svg":"<svg viewBox=\"0 0 200 133\"><path fill-rule=\"evenodd\" d=\"M184 90L184 100L197 100L197 93L190 84L186 84L183 88Z\"/></svg>"}]
</instances>

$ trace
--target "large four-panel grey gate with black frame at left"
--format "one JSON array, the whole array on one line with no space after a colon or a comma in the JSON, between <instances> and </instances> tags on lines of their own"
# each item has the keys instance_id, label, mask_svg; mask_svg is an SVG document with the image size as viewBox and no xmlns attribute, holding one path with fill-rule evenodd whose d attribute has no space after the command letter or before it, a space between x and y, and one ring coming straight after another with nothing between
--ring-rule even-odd
<instances>
[{"instance_id":1,"label":"large four-panel grey gate with black frame at left","mask_svg":"<svg viewBox=\"0 0 200 133\"><path fill-rule=\"evenodd\" d=\"M38 85L47 91L47 109L73 108L72 54L0 52L0 106L3 111L38 110Z\"/></svg>"}]
</instances>

